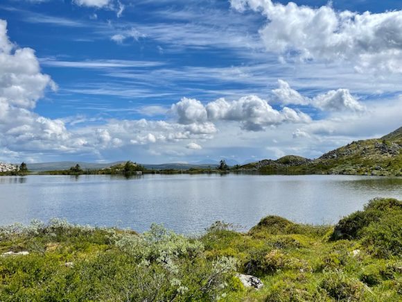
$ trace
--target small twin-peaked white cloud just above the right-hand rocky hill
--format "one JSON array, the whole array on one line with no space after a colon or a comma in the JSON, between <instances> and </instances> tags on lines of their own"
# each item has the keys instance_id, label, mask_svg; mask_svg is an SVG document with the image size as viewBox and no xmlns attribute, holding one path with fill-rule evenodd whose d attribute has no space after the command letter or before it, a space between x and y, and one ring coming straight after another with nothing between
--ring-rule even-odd
<instances>
[{"instance_id":1,"label":"small twin-peaked white cloud just above the right-hand rocky hill","mask_svg":"<svg viewBox=\"0 0 402 302\"><path fill-rule=\"evenodd\" d=\"M331 90L324 94L318 94L313 99L302 97L299 92L293 90L290 85L282 80L279 80L279 88L272 90L276 101L284 105L295 104L304 106L313 106L325 111L351 111L358 112L365 110L355 97L351 95L347 89Z\"/></svg>"}]
</instances>

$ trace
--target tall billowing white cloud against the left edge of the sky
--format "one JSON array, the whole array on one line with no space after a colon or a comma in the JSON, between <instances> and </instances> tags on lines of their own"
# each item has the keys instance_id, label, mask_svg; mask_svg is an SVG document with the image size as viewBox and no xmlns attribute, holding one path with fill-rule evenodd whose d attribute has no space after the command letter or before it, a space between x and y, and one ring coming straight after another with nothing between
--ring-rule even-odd
<instances>
[{"instance_id":1,"label":"tall billowing white cloud against the left edge of the sky","mask_svg":"<svg viewBox=\"0 0 402 302\"><path fill-rule=\"evenodd\" d=\"M33 49L12 44L7 35L7 22L0 20L0 143L3 146L30 150L65 147L60 142L70 136L64 122L32 111L47 87L55 90L55 83L40 72Z\"/></svg>"}]
</instances>

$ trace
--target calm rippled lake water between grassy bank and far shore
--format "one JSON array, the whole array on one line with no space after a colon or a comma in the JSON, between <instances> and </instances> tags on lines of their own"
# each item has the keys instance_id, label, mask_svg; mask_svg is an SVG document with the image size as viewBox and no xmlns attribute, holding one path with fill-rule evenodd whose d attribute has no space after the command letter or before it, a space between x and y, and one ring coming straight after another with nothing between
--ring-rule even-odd
<instances>
[{"instance_id":1,"label":"calm rippled lake water between grassy bank and far shore","mask_svg":"<svg viewBox=\"0 0 402 302\"><path fill-rule=\"evenodd\" d=\"M333 224L376 196L402 199L402 178L368 176L1 176L0 225L62 217L139 232L152 222L198 233L221 220L248 229L266 215Z\"/></svg>"}]
</instances>

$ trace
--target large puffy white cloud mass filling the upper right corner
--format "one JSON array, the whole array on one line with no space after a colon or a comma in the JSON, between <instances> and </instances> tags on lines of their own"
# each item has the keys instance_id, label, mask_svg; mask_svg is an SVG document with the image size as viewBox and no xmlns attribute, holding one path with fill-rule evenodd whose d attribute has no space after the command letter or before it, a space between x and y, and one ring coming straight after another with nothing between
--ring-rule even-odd
<instances>
[{"instance_id":1,"label":"large puffy white cloud mass filling the upper right corner","mask_svg":"<svg viewBox=\"0 0 402 302\"><path fill-rule=\"evenodd\" d=\"M261 12L259 33L268 51L297 53L302 60L348 60L356 70L402 72L402 10L383 13L283 5L272 0L230 0L239 11ZM289 22L291 20L291 22Z\"/></svg>"}]
</instances>

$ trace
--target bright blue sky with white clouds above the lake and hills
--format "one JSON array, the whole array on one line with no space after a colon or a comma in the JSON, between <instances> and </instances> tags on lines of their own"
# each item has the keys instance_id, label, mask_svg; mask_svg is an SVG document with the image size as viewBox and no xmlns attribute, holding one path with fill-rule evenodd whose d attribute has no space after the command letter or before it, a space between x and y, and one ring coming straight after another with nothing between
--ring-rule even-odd
<instances>
[{"instance_id":1,"label":"bright blue sky with white clouds above the lake and hills","mask_svg":"<svg viewBox=\"0 0 402 302\"><path fill-rule=\"evenodd\" d=\"M2 0L0 161L317 158L401 80L399 0Z\"/></svg>"}]
</instances>

